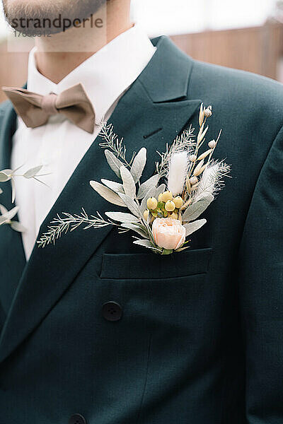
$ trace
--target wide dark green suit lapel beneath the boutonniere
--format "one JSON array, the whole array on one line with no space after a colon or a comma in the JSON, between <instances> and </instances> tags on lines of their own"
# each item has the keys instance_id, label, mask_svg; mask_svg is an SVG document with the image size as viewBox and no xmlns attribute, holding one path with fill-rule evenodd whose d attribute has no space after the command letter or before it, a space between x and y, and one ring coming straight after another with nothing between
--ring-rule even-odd
<instances>
[{"instance_id":1,"label":"wide dark green suit lapel beneath the boutonniere","mask_svg":"<svg viewBox=\"0 0 283 424\"><path fill-rule=\"evenodd\" d=\"M122 97L109 120L115 132L124 137L129 155L141 146L148 149L147 176L154 172L156 150L163 151L166 143L175 139L201 102L185 100L191 61L166 37L159 39L157 47L153 59ZM161 69L164 70L162 83L158 82L161 81ZM175 82L176 76L178 83ZM102 199L89 185L91 179L115 179L98 143L98 139L93 142L79 163L42 223L40 233L47 230L47 225L57 213L80 213L82 206L89 214L119 210ZM86 231L78 229L63 235L55 246L44 249L35 247L1 335L0 360L4 360L40 324L110 230L111 227Z\"/></svg>"}]
</instances>

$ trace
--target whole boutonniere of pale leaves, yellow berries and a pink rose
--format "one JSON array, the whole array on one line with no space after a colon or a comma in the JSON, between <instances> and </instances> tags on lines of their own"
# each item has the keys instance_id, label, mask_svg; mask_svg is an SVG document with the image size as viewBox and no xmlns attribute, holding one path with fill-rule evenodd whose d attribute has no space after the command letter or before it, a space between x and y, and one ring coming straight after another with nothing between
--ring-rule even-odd
<instances>
[{"instance_id":1,"label":"whole boutonniere of pale leaves, yellow berries and a pink rose","mask_svg":"<svg viewBox=\"0 0 283 424\"><path fill-rule=\"evenodd\" d=\"M47 232L37 244L45 247L54 243L58 237L70 230L83 228L102 228L115 225L120 232L135 233L134 244L151 249L156 254L171 254L187 249L186 238L202 228L207 222L197 219L223 187L223 178L228 175L230 166L223 160L212 156L219 142L221 131L216 140L209 141L203 153L200 149L206 141L207 119L212 116L212 107L201 105L197 137L190 126L178 136L161 159L156 163L156 174L141 183L146 165L146 148L127 161L127 150L123 141L117 138L112 126L102 124L100 136L105 148L105 158L120 182L101 179L91 181L91 187L111 204L126 208L127 211L105 212L88 216L82 209L81 214L58 215Z\"/></svg>"}]
</instances>

